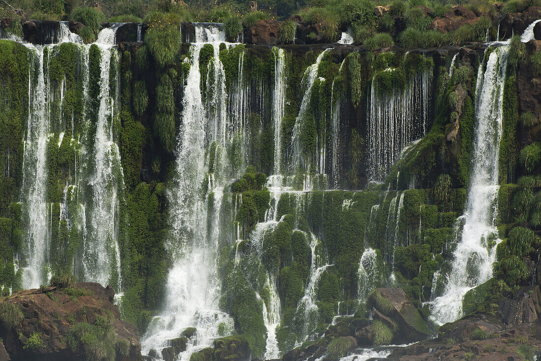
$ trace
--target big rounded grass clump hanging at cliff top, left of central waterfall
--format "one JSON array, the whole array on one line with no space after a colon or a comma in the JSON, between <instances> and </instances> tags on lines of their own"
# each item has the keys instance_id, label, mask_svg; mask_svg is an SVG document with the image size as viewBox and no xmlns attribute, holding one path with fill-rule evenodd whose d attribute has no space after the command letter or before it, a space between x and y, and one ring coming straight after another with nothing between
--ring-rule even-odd
<instances>
[{"instance_id":1,"label":"big rounded grass clump hanging at cliff top, left of central waterfall","mask_svg":"<svg viewBox=\"0 0 541 361\"><path fill-rule=\"evenodd\" d=\"M174 14L153 12L145 20L144 43L157 65L166 67L174 62L180 50L179 18Z\"/></svg>"}]
</instances>

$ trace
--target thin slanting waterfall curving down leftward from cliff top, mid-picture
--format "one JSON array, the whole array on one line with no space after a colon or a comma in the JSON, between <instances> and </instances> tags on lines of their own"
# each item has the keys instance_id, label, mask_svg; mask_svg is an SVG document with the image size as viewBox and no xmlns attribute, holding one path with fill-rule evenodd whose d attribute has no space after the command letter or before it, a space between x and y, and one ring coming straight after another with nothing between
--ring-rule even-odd
<instances>
[{"instance_id":1,"label":"thin slanting waterfall curving down leftward from cliff top, mid-picture","mask_svg":"<svg viewBox=\"0 0 541 361\"><path fill-rule=\"evenodd\" d=\"M312 86L314 85L315 78L318 76L318 68L319 63L323 59L325 53L327 51L331 50L331 48L325 49L321 51L321 53L316 58L315 62L306 68L304 76L302 77L302 87L306 88L306 91L304 95L302 96L301 100L301 106L299 109L299 114L297 115L295 119L295 125L293 126L293 137L291 140L291 145L293 149L292 154L292 171L298 171L300 167L301 162L301 152L300 152L300 132L302 130L302 121L306 117L306 112L308 111L308 107L310 105L310 100L312 99ZM309 171L307 167L308 164L305 165L305 170Z\"/></svg>"}]
</instances>

